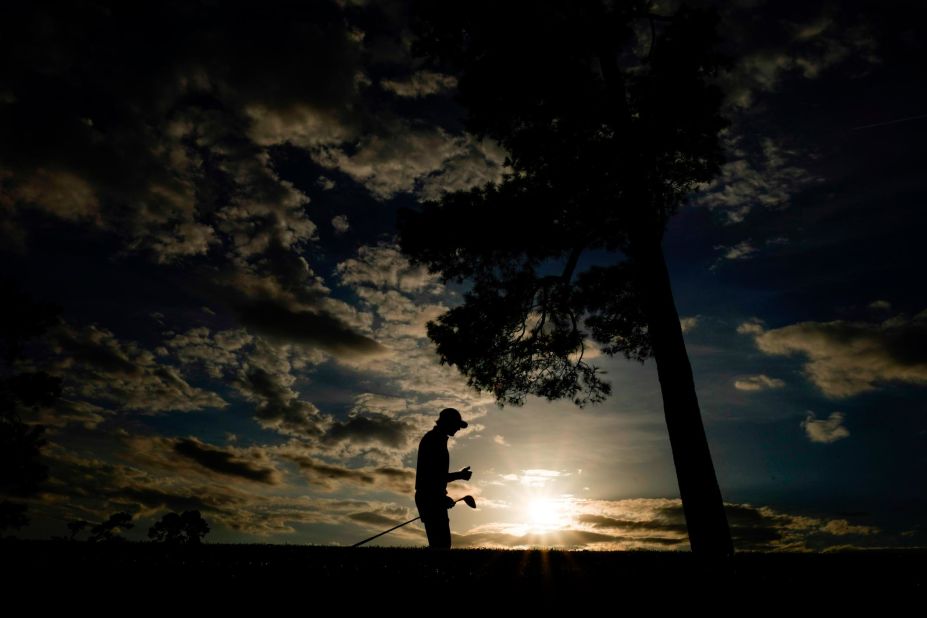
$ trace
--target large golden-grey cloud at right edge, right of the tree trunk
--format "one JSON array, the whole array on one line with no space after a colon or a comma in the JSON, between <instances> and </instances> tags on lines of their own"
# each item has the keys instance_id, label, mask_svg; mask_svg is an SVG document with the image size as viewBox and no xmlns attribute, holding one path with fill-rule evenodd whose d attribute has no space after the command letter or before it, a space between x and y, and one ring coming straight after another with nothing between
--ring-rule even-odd
<instances>
[{"instance_id":1,"label":"large golden-grey cloud at right edge, right of the tree trunk","mask_svg":"<svg viewBox=\"0 0 927 618\"><path fill-rule=\"evenodd\" d=\"M880 323L800 322L765 330L742 324L765 354L806 358L805 373L834 398L868 392L886 382L927 384L927 313Z\"/></svg>"}]
</instances>

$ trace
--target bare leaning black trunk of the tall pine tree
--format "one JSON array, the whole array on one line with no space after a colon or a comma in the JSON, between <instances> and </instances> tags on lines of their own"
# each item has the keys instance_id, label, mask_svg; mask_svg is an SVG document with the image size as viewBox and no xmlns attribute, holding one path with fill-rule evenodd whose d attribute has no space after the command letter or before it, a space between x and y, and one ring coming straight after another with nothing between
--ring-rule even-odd
<instances>
[{"instance_id":1,"label":"bare leaning black trunk of the tall pine tree","mask_svg":"<svg viewBox=\"0 0 927 618\"><path fill-rule=\"evenodd\" d=\"M666 260L658 240L648 244L634 257L639 267L638 285L657 362L689 543L696 554L728 556L734 552L731 533L702 425Z\"/></svg>"}]
</instances>

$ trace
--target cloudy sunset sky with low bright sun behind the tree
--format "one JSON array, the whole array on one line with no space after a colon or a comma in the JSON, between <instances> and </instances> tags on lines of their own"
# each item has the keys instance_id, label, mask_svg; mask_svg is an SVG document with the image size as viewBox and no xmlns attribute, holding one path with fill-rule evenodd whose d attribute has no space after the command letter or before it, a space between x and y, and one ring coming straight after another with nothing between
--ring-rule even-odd
<instances>
[{"instance_id":1,"label":"cloudy sunset sky with low bright sun behind the tree","mask_svg":"<svg viewBox=\"0 0 927 618\"><path fill-rule=\"evenodd\" d=\"M18 536L198 509L211 542L349 545L417 515L453 406L455 547L688 549L652 361L595 357L582 409L438 362L467 284L410 264L396 213L506 153L407 3L131 4L0 9L0 276L62 308L19 365L64 391L24 419L50 476ZM923 547L924 8L718 7L726 162L664 251L734 546Z\"/></svg>"}]
</instances>

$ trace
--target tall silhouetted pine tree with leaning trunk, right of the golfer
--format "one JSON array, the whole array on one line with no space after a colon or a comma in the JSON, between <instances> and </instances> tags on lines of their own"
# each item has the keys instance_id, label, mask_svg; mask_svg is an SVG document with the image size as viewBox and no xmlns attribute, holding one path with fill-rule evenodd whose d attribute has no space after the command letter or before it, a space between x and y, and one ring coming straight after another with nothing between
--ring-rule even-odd
<instances>
[{"instance_id":1,"label":"tall silhouetted pine tree with leaning trunk, right of the golfer","mask_svg":"<svg viewBox=\"0 0 927 618\"><path fill-rule=\"evenodd\" d=\"M399 214L413 262L472 282L429 323L442 363L500 404L610 393L585 360L654 358L693 552L730 531L662 251L667 221L722 161L713 13L651 2L422 2L416 50L458 77L472 133L509 153L501 182ZM588 251L613 256L583 268Z\"/></svg>"}]
</instances>

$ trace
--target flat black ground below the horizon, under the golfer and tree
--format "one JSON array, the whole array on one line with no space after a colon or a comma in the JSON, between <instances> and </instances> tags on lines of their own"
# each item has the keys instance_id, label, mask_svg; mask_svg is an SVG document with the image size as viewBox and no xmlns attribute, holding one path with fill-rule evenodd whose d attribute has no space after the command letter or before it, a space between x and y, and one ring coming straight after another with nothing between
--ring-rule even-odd
<instances>
[{"instance_id":1,"label":"flat black ground below the horizon, under the golfer and tree","mask_svg":"<svg viewBox=\"0 0 927 618\"><path fill-rule=\"evenodd\" d=\"M856 601L887 607L913 601L923 611L927 552L868 551L829 554L740 553L708 562L677 552L570 552L341 548L300 545L169 547L154 543L4 541L2 583L49 590L138 588L159 595L210 591L322 594L350 603L375 593L402 597L480 596L499 603L609 600L623 604L681 604L718 599L756 607L797 603L846 606ZM337 591L337 594L336 594ZM306 596L306 595L309 596ZM726 603L727 605L727 603ZM731 609L733 607L729 606ZM329 615L330 611L316 611ZM621 613L621 612L619 612ZM911 611L906 611L911 613ZM892 615L892 614L886 614Z\"/></svg>"}]
</instances>

